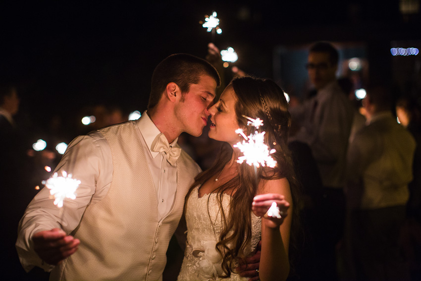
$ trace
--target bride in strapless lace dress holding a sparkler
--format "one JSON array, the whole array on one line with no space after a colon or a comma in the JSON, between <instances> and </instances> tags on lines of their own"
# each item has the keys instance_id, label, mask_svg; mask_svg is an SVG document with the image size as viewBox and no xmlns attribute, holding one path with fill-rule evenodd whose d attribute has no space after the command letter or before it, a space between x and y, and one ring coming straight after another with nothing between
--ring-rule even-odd
<instances>
[{"instance_id":1,"label":"bride in strapless lace dress holding a sparkler","mask_svg":"<svg viewBox=\"0 0 421 281\"><path fill-rule=\"evenodd\" d=\"M286 280L297 188L287 148L290 115L283 91L271 80L235 78L213 105L209 137L224 142L211 169L195 178L186 197L187 245L178 276L185 280L247 280L241 277L245 258L262 240L262 281ZM242 153L233 145L257 130L244 116L263 120L264 143L275 168L237 163ZM275 202L281 218L267 216Z\"/></svg>"}]
</instances>

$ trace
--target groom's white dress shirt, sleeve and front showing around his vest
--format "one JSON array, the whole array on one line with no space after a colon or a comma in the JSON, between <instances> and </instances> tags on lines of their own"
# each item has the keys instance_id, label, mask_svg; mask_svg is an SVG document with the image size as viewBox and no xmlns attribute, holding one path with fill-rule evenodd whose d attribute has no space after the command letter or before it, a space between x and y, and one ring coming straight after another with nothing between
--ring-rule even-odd
<instances>
[{"instance_id":1,"label":"groom's white dress shirt, sleeve and front showing around his vest","mask_svg":"<svg viewBox=\"0 0 421 281\"><path fill-rule=\"evenodd\" d=\"M158 199L158 218L162 220L171 210L177 188L177 167L166 161L164 152L151 151L151 145L160 131L146 112L137 122L138 133L150 167ZM177 139L170 145L175 146ZM58 227L66 233L73 231L80 223L86 207L105 198L112 182L111 151L99 131L78 136L68 146L54 172L72 174L81 181L76 199L65 199L63 215L53 205L50 190L44 187L31 201L19 223L16 246L19 258L26 271L34 265L50 271L53 267L43 264L33 252L31 237L34 233ZM23 250L22 250L23 249ZM31 254L28 254L31 253Z\"/></svg>"}]
</instances>

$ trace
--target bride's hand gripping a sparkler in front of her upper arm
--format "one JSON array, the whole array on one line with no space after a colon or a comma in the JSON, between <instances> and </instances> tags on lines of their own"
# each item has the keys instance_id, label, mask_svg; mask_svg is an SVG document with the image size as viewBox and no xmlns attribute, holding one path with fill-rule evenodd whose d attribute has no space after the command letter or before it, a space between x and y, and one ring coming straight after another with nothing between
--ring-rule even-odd
<instances>
[{"instance_id":1,"label":"bride's hand gripping a sparkler in front of her upper arm","mask_svg":"<svg viewBox=\"0 0 421 281\"><path fill-rule=\"evenodd\" d=\"M272 203L275 202L279 208L280 219L265 216ZM252 211L257 217L262 217L263 223L270 228L277 228L282 225L288 214L289 203L285 201L285 197L277 193L266 193L257 195L253 198Z\"/></svg>"}]
</instances>

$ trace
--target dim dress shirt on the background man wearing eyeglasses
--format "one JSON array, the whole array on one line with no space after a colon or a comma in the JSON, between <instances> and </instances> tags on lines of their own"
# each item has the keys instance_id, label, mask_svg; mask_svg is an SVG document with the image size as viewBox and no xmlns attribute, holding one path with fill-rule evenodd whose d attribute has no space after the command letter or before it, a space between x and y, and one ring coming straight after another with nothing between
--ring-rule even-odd
<instances>
[{"instance_id":1,"label":"dim dress shirt on the background man wearing eyeglasses","mask_svg":"<svg viewBox=\"0 0 421 281\"><path fill-rule=\"evenodd\" d=\"M354 110L338 83L329 83L315 97L289 112L302 125L290 141L298 140L310 146L323 186L342 188Z\"/></svg>"}]
</instances>

